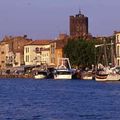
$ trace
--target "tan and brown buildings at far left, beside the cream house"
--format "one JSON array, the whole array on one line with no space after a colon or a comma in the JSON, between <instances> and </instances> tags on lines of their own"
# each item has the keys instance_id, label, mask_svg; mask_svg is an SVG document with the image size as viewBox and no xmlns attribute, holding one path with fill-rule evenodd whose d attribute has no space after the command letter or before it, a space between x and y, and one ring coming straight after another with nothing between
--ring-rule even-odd
<instances>
[{"instance_id":1,"label":"tan and brown buildings at far left, beside the cream house","mask_svg":"<svg viewBox=\"0 0 120 120\"><path fill-rule=\"evenodd\" d=\"M5 36L0 43L0 68L21 66L24 64L24 45L32 41L27 36Z\"/></svg>"}]
</instances>

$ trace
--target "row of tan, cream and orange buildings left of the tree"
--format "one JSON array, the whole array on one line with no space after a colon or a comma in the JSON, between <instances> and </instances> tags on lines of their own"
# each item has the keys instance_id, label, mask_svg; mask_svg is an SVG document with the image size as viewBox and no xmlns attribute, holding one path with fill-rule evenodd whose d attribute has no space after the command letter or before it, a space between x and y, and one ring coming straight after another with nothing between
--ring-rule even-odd
<instances>
[{"instance_id":1,"label":"row of tan, cream and orange buildings left of the tree","mask_svg":"<svg viewBox=\"0 0 120 120\"><path fill-rule=\"evenodd\" d=\"M5 36L0 42L0 70L22 65L57 66L64 56L63 48L67 35L61 34L57 40L31 40L26 36Z\"/></svg>"}]
</instances>

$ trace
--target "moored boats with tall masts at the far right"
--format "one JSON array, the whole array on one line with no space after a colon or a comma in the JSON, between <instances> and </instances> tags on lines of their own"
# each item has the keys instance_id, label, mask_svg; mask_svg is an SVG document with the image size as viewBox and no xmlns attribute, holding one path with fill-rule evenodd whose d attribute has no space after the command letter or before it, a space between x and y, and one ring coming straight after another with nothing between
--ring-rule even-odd
<instances>
[{"instance_id":1,"label":"moored boats with tall masts at the far right","mask_svg":"<svg viewBox=\"0 0 120 120\"><path fill-rule=\"evenodd\" d=\"M104 41L105 42L105 41ZM108 65L108 59L106 54L106 45L111 45L111 66ZM104 58L105 58L105 67L102 64L97 65L97 70L95 74L96 81L118 81L120 80L120 74L117 73L115 67L115 55L113 52L113 43L96 45L95 47L104 47Z\"/></svg>"}]
</instances>

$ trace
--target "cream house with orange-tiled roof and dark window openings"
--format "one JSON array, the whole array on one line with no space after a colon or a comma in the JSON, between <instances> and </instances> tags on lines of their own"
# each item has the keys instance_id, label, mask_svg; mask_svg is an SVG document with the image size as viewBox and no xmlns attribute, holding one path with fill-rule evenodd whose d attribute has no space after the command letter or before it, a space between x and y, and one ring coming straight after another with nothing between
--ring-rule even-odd
<instances>
[{"instance_id":1,"label":"cream house with orange-tiled roof and dark window openings","mask_svg":"<svg viewBox=\"0 0 120 120\"><path fill-rule=\"evenodd\" d=\"M24 46L25 65L50 64L51 40L34 40Z\"/></svg>"}]
</instances>

